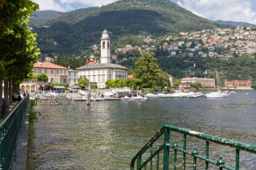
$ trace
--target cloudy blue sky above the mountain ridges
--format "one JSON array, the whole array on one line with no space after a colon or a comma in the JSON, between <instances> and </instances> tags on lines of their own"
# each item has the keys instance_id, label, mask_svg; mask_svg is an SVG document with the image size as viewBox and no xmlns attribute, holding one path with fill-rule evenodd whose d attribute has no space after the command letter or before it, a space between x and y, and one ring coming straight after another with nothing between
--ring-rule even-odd
<instances>
[{"instance_id":1,"label":"cloudy blue sky above the mountain ridges","mask_svg":"<svg viewBox=\"0 0 256 170\"><path fill-rule=\"evenodd\" d=\"M117 0L32 0L40 10L73 11L102 6ZM212 21L218 19L256 24L256 0L171 0L181 7Z\"/></svg>"}]
</instances>

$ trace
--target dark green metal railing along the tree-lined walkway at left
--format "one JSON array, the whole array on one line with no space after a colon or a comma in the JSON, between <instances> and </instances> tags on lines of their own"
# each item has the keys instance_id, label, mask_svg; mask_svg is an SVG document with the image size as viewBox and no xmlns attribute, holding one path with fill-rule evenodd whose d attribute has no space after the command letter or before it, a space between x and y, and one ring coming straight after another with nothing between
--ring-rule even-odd
<instances>
[{"instance_id":1,"label":"dark green metal railing along the tree-lined walkway at left","mask_svg":"<svg viewBox=\"0 0 256 170\"><path fill-rule=\"evenodd\" d=\"M29 100L29 95L26 95L3 120L0 120L0 170L11 169Z\"/></svg>"}]
</instances>

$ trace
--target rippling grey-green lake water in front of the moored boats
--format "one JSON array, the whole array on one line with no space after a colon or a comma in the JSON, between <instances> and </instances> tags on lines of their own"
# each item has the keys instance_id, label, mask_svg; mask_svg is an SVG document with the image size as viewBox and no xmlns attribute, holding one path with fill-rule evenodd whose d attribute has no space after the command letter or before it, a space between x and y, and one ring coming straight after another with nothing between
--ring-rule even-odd
<instances>
[{"instance_id":1,"label":"rippling grey-green lake water in front of the moored boats","mask_svg":"<svg viewBox=\"0 0 256 170\"><path fill-rule=\"evenodd\" d=\"M164 124L256 145L253 90L236 91L226 99L100 101L91 102L90 107L79 101L67 105L39 103L36 111L42 113L34 139L34 157L39 165L36 169L128 170L132 157ZM204 155L200 150L204 143L195 140L195 145L200 145L197 147ZM234 149L220 147L216 151L216 145L213 148L211 155L217 159L224 155L227 163L227 158L234 160ZM179 161L181 165L182 160ZM242 153L241 169L255 170L255 155Z\"/></svg>"}]
</instances>

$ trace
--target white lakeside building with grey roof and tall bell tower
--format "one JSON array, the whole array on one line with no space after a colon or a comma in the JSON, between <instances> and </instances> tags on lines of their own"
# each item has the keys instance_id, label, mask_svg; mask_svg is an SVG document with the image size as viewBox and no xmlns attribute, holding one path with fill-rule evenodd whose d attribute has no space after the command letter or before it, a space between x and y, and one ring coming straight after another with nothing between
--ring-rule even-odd
<instances>
[{"instance_id":1,"label":"white lakeside building with grey roof and tall bell tower","mask_svg":"<svg viewBox=\"0 0 256 170\"><path fill-rule=\"evenodd\" d=\"M98 89L105 88L105 82L108 80L127 79L129 69L110 63L110 38L106 30L102 32L100 51L100 63L89 60L86 65L75 69L78 71L78 77L86 77L91 83L97 83Z\"/></svg>"}]
</instances>

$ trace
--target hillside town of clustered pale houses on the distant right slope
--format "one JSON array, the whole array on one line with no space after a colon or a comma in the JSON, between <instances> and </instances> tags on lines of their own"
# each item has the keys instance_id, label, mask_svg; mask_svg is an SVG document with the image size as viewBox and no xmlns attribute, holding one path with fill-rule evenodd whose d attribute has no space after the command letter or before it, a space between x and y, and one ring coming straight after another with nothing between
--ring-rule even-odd
<instances>
[{"instance_id":1,"label":"hillside town of clustered pale houses on the distant right slope","mask_svg":"<svg viewBox=\"0 0 256 170\"><path fill-rule=\"evenodd\" d=\"M137 36L144 42L156 42L158 39L152 36ZM253 56L256 53L256 28L216 28L215 30L202 30L200 32L180 32L163 38L160 48L168 51L170 55L189 55L201 57L218 57L226 60L233 56ZM117 48L116 52L127 52L138 49L139 52L153 50L156 46L141 44L131 46L126 44L123 48ZM97 45L94 45L94 48ZM97 49L97 48L95 48ZM114 56L114 59L115 56ZM123 58L126 60L127 58Z\"/></svg>"}]
</instances>

